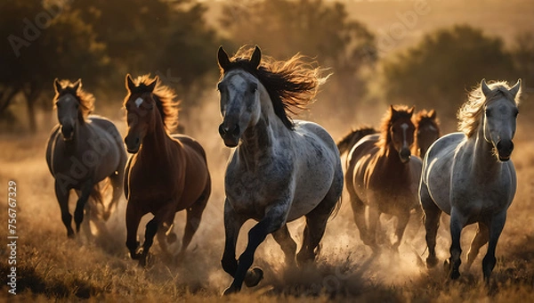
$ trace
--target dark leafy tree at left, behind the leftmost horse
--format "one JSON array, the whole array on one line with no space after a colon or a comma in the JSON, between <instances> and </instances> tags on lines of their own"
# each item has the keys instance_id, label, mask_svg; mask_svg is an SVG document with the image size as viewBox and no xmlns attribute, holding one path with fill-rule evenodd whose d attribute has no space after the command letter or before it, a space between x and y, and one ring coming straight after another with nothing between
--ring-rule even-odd
<instances>
[{"instance_id":1,"label":"dark leafy tree at left, behind the leftmost horse","mask_svg":"<svg viewBox=\"0 0 534 303\"><path fill-rule=\"evenodd\" d=\"M91 26L76 13L65 12L63 5L10 0L0 20L0 37L8 37L0 45L5 53L0 57L0 87L7 103L24 94L32 132L36 103L52 99L53 78L85 78L101 73L107 64L105 47L95 41Z\"/></svg>"}]
</instances>

